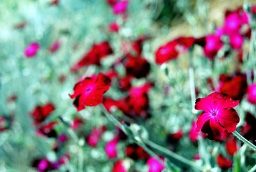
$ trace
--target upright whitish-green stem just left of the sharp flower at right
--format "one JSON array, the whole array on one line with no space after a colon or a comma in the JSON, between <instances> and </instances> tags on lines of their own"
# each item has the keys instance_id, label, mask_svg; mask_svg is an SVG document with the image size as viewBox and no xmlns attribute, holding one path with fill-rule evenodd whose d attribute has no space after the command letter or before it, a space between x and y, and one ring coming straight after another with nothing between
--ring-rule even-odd
<instances>
[{"instance_id":1,"label":"upright whitish-green stem just left of the sharp flower at right","mask_svg":"<svg viewBox=\"0 0 256 172\"><path fill-rule=\"evenodd\" d=\"M192 112L195 113L194 105L196 102L196 93L195 93L195 77L194 77L194 65L193 65L193 47L189 49L189 86L190 86Z\"/></svg>"}]
</instances>

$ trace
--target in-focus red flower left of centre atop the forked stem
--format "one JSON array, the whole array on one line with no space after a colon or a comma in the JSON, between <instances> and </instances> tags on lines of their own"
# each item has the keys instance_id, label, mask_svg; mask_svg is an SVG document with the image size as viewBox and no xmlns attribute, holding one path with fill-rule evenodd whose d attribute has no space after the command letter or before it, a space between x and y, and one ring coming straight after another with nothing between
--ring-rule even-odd
<instances>
[{"instance_id":1,"label":"in-focus red flower left of centre atop the forked stem","mask_svg":"<svg viewBox=\"0 0 256 172\"><path fill-rule=\"evenodd\" d=\"M76 83L70 98L75 98L74 106L77 111L84 109L84 106L97 106L103 102L103 94L108 91L110 85L111 80L104 74L86 77Z\"/></svg>"}]
</instances>

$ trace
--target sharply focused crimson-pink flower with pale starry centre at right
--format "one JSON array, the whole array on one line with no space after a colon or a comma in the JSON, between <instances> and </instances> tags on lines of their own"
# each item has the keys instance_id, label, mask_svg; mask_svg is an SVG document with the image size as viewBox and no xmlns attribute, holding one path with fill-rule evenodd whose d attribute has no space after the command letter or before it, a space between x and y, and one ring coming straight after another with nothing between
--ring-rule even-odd
<instances>
[{"instance_id":1,"label":"sharply focused crimson-pink flower with pale starry centre at right","mask_svg":"<svg viewBox=\"0 0 256 172\"><path fill-rule=\"evenodd\" d=\"M204 112L198 116L196 130L207 133L209 139L224 139L225 132L234 132L239 123L239 116L233 109L238 104L239 100L232 100L228 95L218 92L197 98L195 109Z\"/></svg>"}]
</instances>

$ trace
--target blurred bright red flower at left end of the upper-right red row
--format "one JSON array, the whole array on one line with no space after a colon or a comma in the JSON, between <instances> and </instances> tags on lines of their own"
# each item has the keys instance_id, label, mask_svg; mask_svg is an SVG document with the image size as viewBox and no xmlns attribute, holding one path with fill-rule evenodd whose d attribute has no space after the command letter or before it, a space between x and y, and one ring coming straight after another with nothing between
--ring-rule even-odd
<instances>
[{"instance_id":1,"label":"blurred bright red flower at left end of the upper-right red row","mask_svg":"<svg viewBox=\"0 0 256 172\"><path fill-rule=\"evenodd\" d=\"M179 52L177 52L175 49L176 45L177 42L168 42L165 45L159 47L156 51L156 63L161 65L171 59L177 59Z\"/></svg>"}]
</instances>

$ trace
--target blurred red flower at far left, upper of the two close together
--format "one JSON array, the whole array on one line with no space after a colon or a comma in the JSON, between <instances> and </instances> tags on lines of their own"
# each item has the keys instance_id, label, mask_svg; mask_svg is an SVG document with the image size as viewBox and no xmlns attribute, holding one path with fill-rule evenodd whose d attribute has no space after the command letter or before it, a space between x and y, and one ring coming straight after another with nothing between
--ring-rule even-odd
<instances>
[{"instance_id":1,"label":"blurred red flower at far left, upper of the two close together","mask_svg":"<svg viewBox=\"0 0 256 172\"><path fill-rule=\"evenodd\" d=\"M31 112L31 116L34 120L34 124L38 125L42 123L51 113L54 111L55 107L53 104L48 103L44 106L36 106Z\"/></svg>"}]
</instances>

